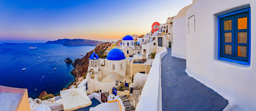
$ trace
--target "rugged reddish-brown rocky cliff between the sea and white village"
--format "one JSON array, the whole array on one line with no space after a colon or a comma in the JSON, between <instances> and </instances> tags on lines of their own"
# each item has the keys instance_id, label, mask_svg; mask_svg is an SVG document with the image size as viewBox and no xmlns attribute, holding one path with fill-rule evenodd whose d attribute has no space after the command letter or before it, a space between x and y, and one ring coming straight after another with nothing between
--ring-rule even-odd
<instances>
[{"instance_id":1,"label":"rugged reddish-brown rocky cliff between the sea and white village","mask_svg":"<svg viewBox=\"0 0 256 111\"><path fill-rule=\"evenodd\" d=\"M95 46L95 53L100 57L105 59L107 56L104 56L104 52L107 49L107 46L109 45L109 43L99 43ZM87 73L87 69L88 69L88 63L89 63L89 58L90 55L93 53L93 50L91 50L90 52L88 52L86 54L86 56L84 56L81 59L76 59L75 62L72 63L72 65L75 67L70 73L72 75L75 76L76 81L74 81L70 86L75 85L75 83L77 82L78 78L83 76ZM68 88L70 88L70 86L68 86Z\"/></svg>"}]
</instances>

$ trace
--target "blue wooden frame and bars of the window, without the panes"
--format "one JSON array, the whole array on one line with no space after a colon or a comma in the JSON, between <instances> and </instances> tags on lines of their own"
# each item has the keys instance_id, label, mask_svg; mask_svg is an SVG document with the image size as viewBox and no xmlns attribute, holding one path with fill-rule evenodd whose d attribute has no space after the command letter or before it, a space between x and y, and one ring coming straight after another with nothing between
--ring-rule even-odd
<instances>
[{"instance_id":1,"label":"blue wooden frame and bars of the window, without the panes","mask_svg":"<svg viewBox=\"0 0 256 111\"><path fill-rule=\"evenodd\" d=\"M239 13L246 12L246 11L249 11L249 21L248 21L249 27L244 31L248 32L248 30L249 30L249 41L248 41L249 43L240 43L239 45L247 46L247 47L249 47L249 50L247 50L247 54L248 54L247 57L237 57L237 56L235 56L237 54L237 50L235 50L235 49L237 49L237 46L238 46L238 43L236 43L236 41L237 41L236 34L237 34L237 32L240 32L243 30L239 30L239 31L237 30L237 27L235 27L235 25L237 25L237 23L235 22L236 20L234 20L234 18L235 18L235 16L236 17L239 16ZM235 14L238 14L238 15L235 15ZM224 18L224 17L230 16L230 15L234 15L234 16ZM250 65L250 54L251 54L250 53L251 52L251 47L250 47L251 46L251 19L250 18L251 18L250 7L218 16L218 59L228 61L228 62L235 62L235 63L239 63L239 64ZM232 22L231 22L231 24L233 24L233 25L231 25L232 30L224 31L224 29L223 29L224 27L220 26L221 25L220 19L222 19L222 21L224 19L232 19ZM221 39L224 39L224 37L223 37L224 32L232 32L232 42L231 43L221 43L221 41L223 41ZM233 55L233 56L224 54L224 46L223 46L224 44L232 45L232 50L231 50L232 54L231 55ZM220 49L220 48L222 48L222 49ZM248 61L248 62L243 62L243 61Z\"/></svg>"}]
</instances>

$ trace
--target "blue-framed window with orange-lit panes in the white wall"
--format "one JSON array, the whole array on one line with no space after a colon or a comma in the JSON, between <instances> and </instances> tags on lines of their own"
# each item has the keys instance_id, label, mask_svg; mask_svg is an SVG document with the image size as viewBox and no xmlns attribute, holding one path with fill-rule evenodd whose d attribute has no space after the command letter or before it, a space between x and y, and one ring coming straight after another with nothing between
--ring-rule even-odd
<instances>
[{"instance_id":1,"label":"blue-framed window with orange-lit panes in the white wall","mask_svg":"<svg viewBox=\"0 0 256 111\"><path fill-rule=\"evenodd\" d=\"M218 59L250 65L250 8L218 16Z\"/></svg>"}]
</instances>

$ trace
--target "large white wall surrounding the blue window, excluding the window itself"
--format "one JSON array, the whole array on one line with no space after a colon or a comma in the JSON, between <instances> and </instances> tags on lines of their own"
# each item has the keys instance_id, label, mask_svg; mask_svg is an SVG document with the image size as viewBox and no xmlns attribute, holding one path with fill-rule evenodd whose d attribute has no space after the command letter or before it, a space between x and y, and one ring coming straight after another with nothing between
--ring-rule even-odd
<instances>
[{"instance_id":1,"label":"large white wall surrounding the blue window, excluding the window itself","mask_svg":"<svg viewBox=\"0 0 256 111\"><path fill-rule=\"evenodd\" d=\"M218 16L251 8L250 66L218 60ZM195 16L195 33L186 34L186 72L239 110L256 111L256 0L198 0L187 12ZM182 21L183 18L182 18ZM177 23L177 21L175 21ZM175 26L177 24L174 24ZM175 31L177 29L173 29ZM176 37L173 37L173 41ZM173 42L173 48L177 43ZM174 47L175 46L175 47ZM176 50L177 51L177 50ZM173 52L175 50L173 49Z\"/></svg>"}]
</instances>

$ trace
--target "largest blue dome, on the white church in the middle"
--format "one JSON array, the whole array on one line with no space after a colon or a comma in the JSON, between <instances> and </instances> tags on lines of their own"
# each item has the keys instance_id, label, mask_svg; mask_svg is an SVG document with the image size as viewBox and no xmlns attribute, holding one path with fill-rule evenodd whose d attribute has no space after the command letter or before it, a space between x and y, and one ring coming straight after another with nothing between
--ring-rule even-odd
<instances>
[{"instance_id":1,"label":"largest blue dome, on the white church in the middle","mask_svg":"<svg viewBox=\"0 0 256 111\"><path fill-rule=\"evenodd\" d=\"M106 59L112 60L112 61L119 61L125 58L126 57L124 56L124 53L122 52L122 50L115 48L109 51L109 54Z\"/></svg>"}]
</instances>

